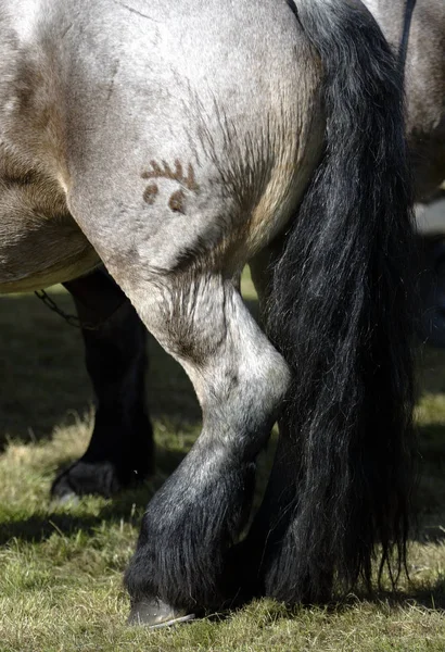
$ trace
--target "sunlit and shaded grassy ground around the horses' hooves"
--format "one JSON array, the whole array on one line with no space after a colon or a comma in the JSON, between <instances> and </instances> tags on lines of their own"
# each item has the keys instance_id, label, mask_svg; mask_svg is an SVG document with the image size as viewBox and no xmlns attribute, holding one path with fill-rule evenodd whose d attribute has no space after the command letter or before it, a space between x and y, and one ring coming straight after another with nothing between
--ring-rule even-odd
<instances>
[{"instance_id":1,"label":"sunlit and shaded grassy ground around the horses' hooves","mask_svg":"<svg viewBox=\"0 0 445 652\"><path fill-rule=\"evenodd\" d=\"M252 288L246 285L252 299ZM410 581L397 595L355 597L329 609L285 611L271 601L162 631L125 625L122 574L144 503L199 432L190 384L150 342L150 402L157 472L113 501L50 504L51 480L84 451L91 392L79 333L31 296L0 303L0 651L445 650L445 353L424 351L418 419L421 526ZM58 302L71 310L69 298ZM269 461L263 461L265 476Z\"/></svg>"}]
</instances>

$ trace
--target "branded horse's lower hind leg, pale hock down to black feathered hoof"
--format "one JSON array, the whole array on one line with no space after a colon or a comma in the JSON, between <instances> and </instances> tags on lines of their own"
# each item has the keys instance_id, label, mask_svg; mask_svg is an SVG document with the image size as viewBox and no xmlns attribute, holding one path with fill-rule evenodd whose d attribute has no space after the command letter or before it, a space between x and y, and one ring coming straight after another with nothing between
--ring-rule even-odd
<instances>
[{"instance_id":1,"label":"branded horse's lower hind leg, pale hock down to black feathered hoof","mask_svg":"<svg viewBox=\"0 0 445 652\"><path fill-rule=\"evenodd\" d=\"M147 507L126 575L130 619L157 625L231 597L227 553L249 515L255 460L289 371L231 279L160 276L131 300L188 372L203 411L201 436Z\"/></svg>"}]
</instances>

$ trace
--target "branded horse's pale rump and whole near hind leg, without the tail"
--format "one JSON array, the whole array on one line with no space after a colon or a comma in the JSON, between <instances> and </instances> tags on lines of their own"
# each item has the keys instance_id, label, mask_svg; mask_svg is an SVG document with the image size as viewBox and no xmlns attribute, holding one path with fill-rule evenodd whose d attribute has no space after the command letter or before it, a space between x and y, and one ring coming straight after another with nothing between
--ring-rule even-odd
<instances>
[{"instance_id":1,"label":"branded horse's pale rump and whole near hind leg, without the tail","mask_svg":"<svg viewBox=\"0 0 445 652\"><path fill-rule=\"evenodd\" d=\"M87 32L96 10L86 8ZM177 16L163 3L150 10L148 21L113 9L132 43L118 61L113 32L94 43L96 68L81 65L91 42L76 40L67 201L203 410L199 440L148 506L127 573L132 617L154 624L238 589L228 549L289 385L238 277L291 217L320 155L323 115L318 58L285 3L245 0L221 16L216 1L181 2ZM276 34L283 42L271 55Z\"/></svg>"}]
</instances>

